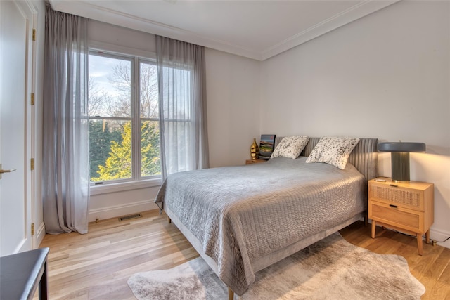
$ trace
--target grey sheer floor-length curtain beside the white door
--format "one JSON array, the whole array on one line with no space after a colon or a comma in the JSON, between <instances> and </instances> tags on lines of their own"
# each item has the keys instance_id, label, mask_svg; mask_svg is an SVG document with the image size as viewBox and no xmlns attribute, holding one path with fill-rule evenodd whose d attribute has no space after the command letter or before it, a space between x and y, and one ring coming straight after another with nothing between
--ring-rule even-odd
<instances>
[{"instance_id":1,"label":"grey sheer floor-length curtain beside the white door","mask_svg":"<svg viewBox=\"0 0 450 300\"><path fill-rule=\"evenodd\" d=\"M87 19L46 6L42 196L47 233L87 233Z\"/></svg>"}]
</instances>

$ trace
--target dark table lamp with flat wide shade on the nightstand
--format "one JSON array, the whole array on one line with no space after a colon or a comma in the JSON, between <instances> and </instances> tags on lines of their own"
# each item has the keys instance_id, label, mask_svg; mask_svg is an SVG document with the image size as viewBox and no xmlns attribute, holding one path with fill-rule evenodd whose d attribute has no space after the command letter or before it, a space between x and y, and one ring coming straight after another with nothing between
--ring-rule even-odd
<instances>
[{"instance_id":1,"label":"dark table lamp with flat wide shade on the nightstand","mask_svg":"<svg viewBox=\"0 0 450 300\"><path fill-rule=\"evenodd\" d=\"M378 151L391 152L392 181L409 183L409 152L425 152L424 143L379 143Z\"/></svg>"}]
</instances>

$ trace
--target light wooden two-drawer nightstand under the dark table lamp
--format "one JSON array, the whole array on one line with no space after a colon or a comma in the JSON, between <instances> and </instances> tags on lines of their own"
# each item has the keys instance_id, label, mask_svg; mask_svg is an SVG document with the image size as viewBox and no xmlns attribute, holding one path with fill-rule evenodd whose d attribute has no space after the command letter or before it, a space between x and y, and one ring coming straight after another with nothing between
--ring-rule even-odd
<instances>
[{"instance_id":1,"label":"light wooden two-drawer nightstand under the dark table lamp","mask_svg":"<svg viewBox=\"0 0 450 300\"><path fill-rule=\"evenodd\" d=\"M430 243L430 226L434 221L434 185L372 179L368 181L368 218L372 219L372 238L377 225L416 235L418 252L422 255L422 235L425 233L426 242Z\"/></svg>"}]
</instances>

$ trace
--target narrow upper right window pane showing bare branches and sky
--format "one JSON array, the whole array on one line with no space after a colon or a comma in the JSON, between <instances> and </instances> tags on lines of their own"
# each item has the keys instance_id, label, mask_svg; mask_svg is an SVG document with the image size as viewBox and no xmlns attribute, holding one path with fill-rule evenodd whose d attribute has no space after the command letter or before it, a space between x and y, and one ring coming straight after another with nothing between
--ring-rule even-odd
<instances>
[{"instance_id":1,"label":"narrow upper right window pane showing bare branches and sky","mask_svg":"<svg viewBox=\"0 0 450 300\"><path fill-rule=\"evenodd\" d=\"M141 78L141 117L158 119L158 74L156 65L141 62L139 63L139 76Z\"/></svg>"}]
</instances>

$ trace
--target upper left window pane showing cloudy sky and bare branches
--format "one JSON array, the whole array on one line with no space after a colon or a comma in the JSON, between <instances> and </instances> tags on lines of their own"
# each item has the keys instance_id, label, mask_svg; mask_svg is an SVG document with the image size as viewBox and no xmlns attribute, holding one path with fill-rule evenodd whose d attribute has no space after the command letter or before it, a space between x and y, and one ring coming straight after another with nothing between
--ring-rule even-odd
<instances>
[{"instance_id":1,"label":"upper left window pane showing cloudy sky and bare branches","mask_svg":"<svg viewBox=\"0 0 450 300\"><path fill-rule=\"evenodd\" d=\"M131 60L89 55L89 117L131 117Z\"/></svg>"}]
</instances>

